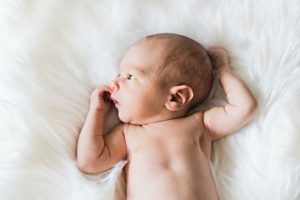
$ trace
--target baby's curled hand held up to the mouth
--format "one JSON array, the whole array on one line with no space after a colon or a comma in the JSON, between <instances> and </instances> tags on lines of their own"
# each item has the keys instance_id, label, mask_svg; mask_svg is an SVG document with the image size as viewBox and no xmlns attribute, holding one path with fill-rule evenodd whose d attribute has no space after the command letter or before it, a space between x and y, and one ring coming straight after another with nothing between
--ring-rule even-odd
<instances>
[{"instance_id":1,"label":"baby's curled hand held up to the mouth","mask_svg":"<svg viewBox=\"0 0 300 200\"><path fill-rule=\"evenodd\" d=\"M90 110L107 114L111 108L111 92L112 89L106 85L96 88L91 94Z\"/></svg>"}]
</instances>

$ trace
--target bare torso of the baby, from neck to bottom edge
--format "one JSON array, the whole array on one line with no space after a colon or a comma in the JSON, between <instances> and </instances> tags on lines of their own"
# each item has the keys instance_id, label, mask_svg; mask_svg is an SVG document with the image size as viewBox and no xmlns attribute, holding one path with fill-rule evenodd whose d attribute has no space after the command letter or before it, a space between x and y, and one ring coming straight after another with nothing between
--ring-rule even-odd
<instances>
[{"instance_id":1,"label":"bare torso of the baby, from neck to bottom edge","mask_svg":"<svg viewBox=\"0 0 300 200\"><path fill-rule=\"evenodd\" d=\"M127 128L127 199L218 199L211 141L199 121L192 115Z\"/></svg>"}]
</instances>

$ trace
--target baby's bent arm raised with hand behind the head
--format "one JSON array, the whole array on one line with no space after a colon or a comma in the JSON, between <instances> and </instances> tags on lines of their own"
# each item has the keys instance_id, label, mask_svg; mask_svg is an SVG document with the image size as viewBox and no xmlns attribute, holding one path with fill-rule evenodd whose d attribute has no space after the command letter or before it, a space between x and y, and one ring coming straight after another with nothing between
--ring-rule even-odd
<instances>
[{"instance_id":1,"label":"baby's bent arm raised with hand behind the head","mask_svg":"<svg viewBox=\"0 0 300 200\"><path fill-rule=\"evenodd\" d=\"M228 62L228 54L221 47L208 50L218 79L223 87L228 104L204 112L204 125L212 139L218 139L235 132L252 118L257 103L247 86L233 74Z\"/></svg>"}]
</instances>

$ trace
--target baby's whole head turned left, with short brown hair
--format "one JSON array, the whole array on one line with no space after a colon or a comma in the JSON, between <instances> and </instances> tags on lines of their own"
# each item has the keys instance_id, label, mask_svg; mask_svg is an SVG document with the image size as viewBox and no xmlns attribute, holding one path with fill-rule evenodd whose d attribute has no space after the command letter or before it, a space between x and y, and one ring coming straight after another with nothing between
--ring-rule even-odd
<instances>
[{"instance_id":1,"label":"baby's whole head turned left, with short brown hair","mask_svg":"<svg viewBox=\"0 0 300 200\"><path fill-rule=\"evenodd\" d=\"M188 37L162 33L127 50L112 98L122 121L148 124L184 116L208 96L212 85L206 50Z\"/></svg>"}]
</instances>

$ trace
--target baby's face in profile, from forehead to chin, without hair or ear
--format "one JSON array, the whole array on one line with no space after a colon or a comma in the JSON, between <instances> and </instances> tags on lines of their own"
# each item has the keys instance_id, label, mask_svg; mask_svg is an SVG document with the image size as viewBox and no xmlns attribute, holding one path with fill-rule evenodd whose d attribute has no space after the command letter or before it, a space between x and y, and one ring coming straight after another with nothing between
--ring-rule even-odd
<instances>
[{"instance_id":1,"label":"baby's face in profile, from forehead to chin, without hair or ear","mask_svg":"<svg viewBox=\"0 0 300 200\"><path fill-rule=\"evenodd\" d=\"M157 44L142 40L122 58L111 96L123 122L149 123L162 112L167 95L160 89L156 76L162 51Z\"/></svg>"}]
</instances>

